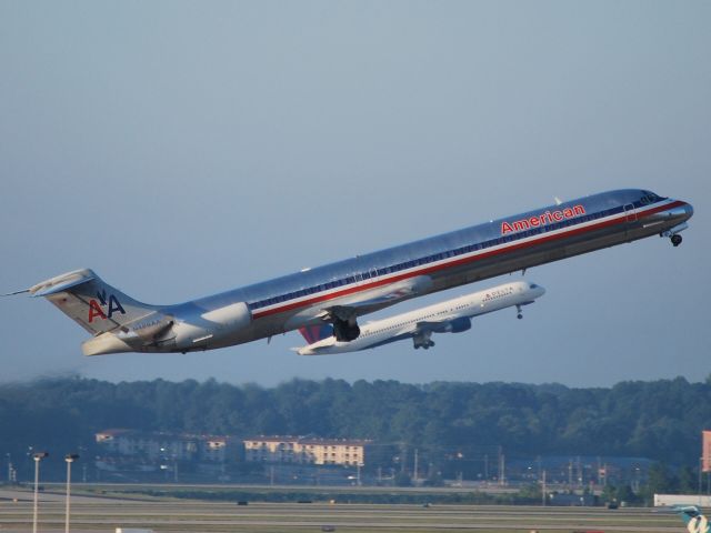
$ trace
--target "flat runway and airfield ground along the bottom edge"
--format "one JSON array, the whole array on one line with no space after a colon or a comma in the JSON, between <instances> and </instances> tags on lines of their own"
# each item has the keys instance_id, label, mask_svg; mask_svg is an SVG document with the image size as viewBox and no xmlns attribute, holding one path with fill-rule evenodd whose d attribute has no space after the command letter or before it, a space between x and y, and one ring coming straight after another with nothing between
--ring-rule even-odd
<instances>
[{"instance_id":1,"label":"flat runway and airfield ground along the bottom edge","mask_svg":"<svg viewBox=\"0 0 711 533\"><path fill-rule=\"evenodd\" d=\"M18 501L13 501L18 500ZM321 532L418 533L538 531L672 533L685 529L673 514L649 509L540 507L494 505L368 505L328 503L207 503L192 500L72 497L71 531L113 532L146 527L156 532ZM32 526L32 493L0 491L0 533ZM41 494L38 531L64 531L64 496Z\"/></svg>"}]
</instances>

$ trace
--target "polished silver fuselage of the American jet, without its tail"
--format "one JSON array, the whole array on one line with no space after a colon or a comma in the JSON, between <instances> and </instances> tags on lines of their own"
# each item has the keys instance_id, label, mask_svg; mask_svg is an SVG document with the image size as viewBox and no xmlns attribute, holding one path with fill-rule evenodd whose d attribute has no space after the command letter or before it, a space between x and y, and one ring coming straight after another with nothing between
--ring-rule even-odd
<instances>
[{"instance_id":1,"label":"polished silver fuselage of the American jet, without its tail","mask_svg":"<svg viewBox=\"0 0 711 533\"><path fill-rule=\"evenodd\" d=\"M354 295L364 296L394 283L417 283L424 279L427 283L420 283L422 289L405 298L429 294L661 234L683 224L692 212L691 205L683 201L647 191L604 192L297 272L166 311L181 316L186 312L190 315L194 311L247 302L252 316L248 328L212 345L196 348L238 344L319 323L323 308L348 305ZM374 304L359 310L358 314L387 305Z\"/></svg>"}]
</instances>

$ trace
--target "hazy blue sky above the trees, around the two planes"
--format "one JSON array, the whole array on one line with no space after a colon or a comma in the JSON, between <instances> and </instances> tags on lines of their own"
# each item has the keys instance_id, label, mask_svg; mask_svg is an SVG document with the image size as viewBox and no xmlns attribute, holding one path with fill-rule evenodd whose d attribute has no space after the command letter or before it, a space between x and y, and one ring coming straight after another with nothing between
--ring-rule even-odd
<instances>
[{"instance_id":1,"label":"hazy blue sky above the trees, around the two planes","mask_svg":"<svg viewBox=\"0 0 711 533\"><path fill-rule=\"evenodd\" d=\"M177 303L627 187L695 215L679 249L530 270L548 293L524 320L428 352L300 358L290 333L88 359L51 304L2 299L0 381L704 379L710 28L708 1L2 1L0 292L90 266Z\"/></svg>"}]
</instances>

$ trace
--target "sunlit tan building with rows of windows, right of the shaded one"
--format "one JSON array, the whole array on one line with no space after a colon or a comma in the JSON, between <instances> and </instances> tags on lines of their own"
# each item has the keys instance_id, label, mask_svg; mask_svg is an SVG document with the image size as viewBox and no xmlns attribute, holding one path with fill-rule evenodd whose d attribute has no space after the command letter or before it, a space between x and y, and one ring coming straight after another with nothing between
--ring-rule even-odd
<instances>
[{"instance_id":1,"label":"sunlit tan building with rows of windows, right of the shaded one","mask_svg":"<svg viewBox=\"0 0 711 533\"><path fill-rule=\"evenodd\" d=\"M312 439L300 436L257 436L247 439L244 459L258 463L365 464L371 441L352 439Z\"/></svg>"}]
</instances>

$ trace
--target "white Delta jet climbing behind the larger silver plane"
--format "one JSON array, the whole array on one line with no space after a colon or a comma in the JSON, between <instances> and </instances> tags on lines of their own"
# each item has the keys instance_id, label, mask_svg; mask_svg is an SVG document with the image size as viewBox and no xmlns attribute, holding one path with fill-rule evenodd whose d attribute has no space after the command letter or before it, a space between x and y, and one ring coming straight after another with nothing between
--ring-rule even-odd
<instances>
[{"instance_id":1,"label":"white Delta jet climbing behind the larger silver plane","mask_svg":"<svg viewBox=\"0 0 711 533\"><path fill-rule=\"evenodd\" d=\"M445 302L428 305L389 319L363 324L354 341L341 342L330 325L302 328L301 334L310 344L294 349L299 355L327 355L358 352L395 341L412 339L414 349L428 350L434 345L432 333L461 333L471 329L471 319L501 309L533 303L545 290L528 281L504 283L485 291L474 292Z\"/></svg>"}]
</instances>

